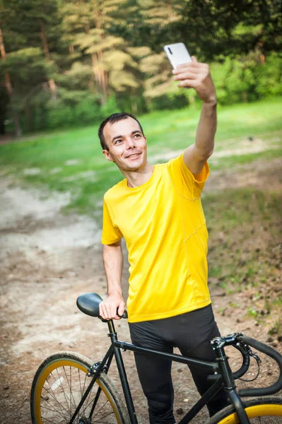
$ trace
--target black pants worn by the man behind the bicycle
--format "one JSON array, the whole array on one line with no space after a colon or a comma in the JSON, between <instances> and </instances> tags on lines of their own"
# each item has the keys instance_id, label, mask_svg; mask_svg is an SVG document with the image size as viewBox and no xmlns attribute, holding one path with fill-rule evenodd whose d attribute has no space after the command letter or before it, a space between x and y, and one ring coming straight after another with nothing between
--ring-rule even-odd
<instances>
[{"instance_id":1,"label":"black pants worn by the man behind the bicycle","mask_svg":"<svg viewBox=\"0 0 282 424\"><path fill-rule=\"evenodd\" d=\"M137 346L168 353L177 347L184 356L216 360L209 341L220 333L211 305L175 317L129 323L129 329L132 343ZM142 353L135 353L135 361L148 400L150 424L174 424L171 361ZM204 394L212 384L207 381L211 371L193 366L189 369L199 393ZM207 405L210 416L227 405L228 397L221 389Z\"/></svg>"}]
</instances>

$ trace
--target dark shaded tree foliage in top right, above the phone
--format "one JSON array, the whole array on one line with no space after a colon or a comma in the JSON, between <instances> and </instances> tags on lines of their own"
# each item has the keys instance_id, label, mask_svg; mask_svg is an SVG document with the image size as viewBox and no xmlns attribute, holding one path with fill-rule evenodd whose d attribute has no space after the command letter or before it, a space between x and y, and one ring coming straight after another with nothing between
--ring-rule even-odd
<instances>
[{"instance_id":1,"label":"dark shaded tree foliage in top right, above the phone","mask_svg":"<svg viewBox=\"0 0 282 424\"><path fill-rule=\"evenodd\" d=\"M138 6L130 21L135 25L132 30L122 28L124 37L157 53L163 45L180 41L191 54L204 61L247 54L254 49L264 56L281 51L280 0L131 0L131 3Z\"/></svg>"}]
</instances>

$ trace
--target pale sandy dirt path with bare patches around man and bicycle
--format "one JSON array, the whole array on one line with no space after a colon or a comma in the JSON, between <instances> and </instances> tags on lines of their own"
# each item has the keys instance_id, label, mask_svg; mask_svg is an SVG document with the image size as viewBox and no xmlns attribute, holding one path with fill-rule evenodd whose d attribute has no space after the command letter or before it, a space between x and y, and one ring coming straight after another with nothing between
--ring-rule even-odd
<instances>
[{"instance_id":1,"label":"pale sandy dirt path with bare patches around man and bicycle","mask_svg":"<svg viewBox=\"0 0 282 424\"><path fill-rule=\"evenodd\" d=\"M254 185L262 179L252 173ZM250 176L249 176L250 177ZM222 175L211 179L210 189L218 187ZM241 186L243 179L237 179ZM67 194L48 197L35 190L16 187L12 180L0 186L1 236L1 379L0 423L30 423L29 396L35 371L42 360L61 350L78 351L100 360L109 344L107 327L98 319L83 315L76 308L76 298L85 292L105 294L100 229L86 216L63 216L60 208L69 201ZM127 271L123 287L127 293ZM213 307L223 334L242 331L261 340L266 329L254 326L245 318L248 300L244 293L225 296L213 289ZM217 313L228 302L239 302L242 309ZM129 340L127 322L117 323L119 338ZM279 346L278 346L279 348ZM148 423L146 401L141 393L131 353L124 354L129 384L141 416ZM236 357L233 365L237 363ZM236 365L235 365L236 367ZM262 368L262 379L276 374ZM116 377L114 372L110 372ZM269 377L270 376L270 377ZM184 365L173 366L175 410L187 409L197 394ZM204 423L203 412L193 423ZM177 413L176 413L177 415Z\"/></svg>"}]
</instances>

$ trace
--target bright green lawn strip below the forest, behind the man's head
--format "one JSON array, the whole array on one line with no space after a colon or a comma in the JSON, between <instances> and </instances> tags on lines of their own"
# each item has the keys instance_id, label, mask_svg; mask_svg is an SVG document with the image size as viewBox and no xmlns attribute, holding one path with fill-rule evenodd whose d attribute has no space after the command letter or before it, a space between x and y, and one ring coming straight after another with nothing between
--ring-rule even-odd
<instances>
[{"instance_id":1,"label":"bright green lawn strip below the forest, behind the man's head","mask_svg":"<svg viewBox=\"0 0 282 424\"><path fill-rule=\"evenodd\" d=\"M253 136L266 144L264 151L211 158L214 170L244 165L259 158L271 159L282 154L282 98L262 102L218 107L216 152L232 150ZM182 150L194 143L199 109L153 112L139 117L148 139L150 155ZM25 137L0 147L2 174L16 175L23 182L44 185L48 189L71 192L68 208L79 213L101 215L103 194L122 175L102 155L98 126L55 131ZM67 160L77 160L66 165ZM161 160L160 160L161 162ZM25 170L39 168L38 175ZM56 172L55 172L56 171ZM231 212L230 212L231 213ZM232 218L232 216L231 216Z\"/></svg>"}]
</instances>

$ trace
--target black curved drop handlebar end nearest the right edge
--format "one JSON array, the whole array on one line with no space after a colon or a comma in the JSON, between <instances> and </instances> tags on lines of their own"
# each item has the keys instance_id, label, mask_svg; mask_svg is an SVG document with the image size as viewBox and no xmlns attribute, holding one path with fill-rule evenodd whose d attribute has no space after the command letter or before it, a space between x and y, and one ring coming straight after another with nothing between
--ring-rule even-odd
<instances>
[{"instance_id":1,"label":"black curved drop handlebar end nearest the right edge","mask_svg":"<svg viewBox=\"0 0 282 424\"><path fill-rule=\"evenodd\" d=\"M265 353L276 361L278 364L280 375L274 384L269 387L262 387L257 389L240 389L238 393L240 396L265 396L266 394L274 394L282 388L282 355L275 351L270 346L262 343L261 341L254 340L254 338L242 336L243 343L257 349L257 351Z\"/></svg>"}]
</instances>

